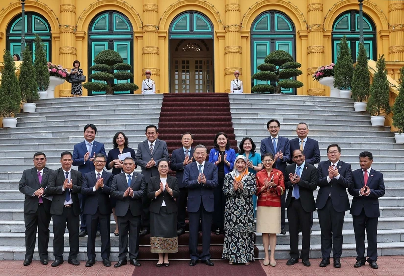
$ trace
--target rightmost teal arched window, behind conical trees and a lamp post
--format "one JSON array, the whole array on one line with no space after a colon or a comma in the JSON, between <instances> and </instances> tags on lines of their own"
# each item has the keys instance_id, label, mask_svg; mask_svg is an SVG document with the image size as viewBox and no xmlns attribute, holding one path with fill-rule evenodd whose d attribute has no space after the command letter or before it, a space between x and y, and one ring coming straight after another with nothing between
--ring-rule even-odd
<instances>
[{"instance_id":1,"label":"rightmost teal arched window, behind conical trees and a lamp post","mask_svg":"<svg viewBox=\"0 0 404 276\"><path fill-rule=\"evenodd\" d=\"M339 53L339 41L346 35L348 46L351 48L352 60L356 62L359 52L359 11L352 10L340 14L333 23L332 31L332 60L336 62ZM363 13L364 45L368 59L376 60L376 27L372 19Z\"/></svg>"}]
</instances>

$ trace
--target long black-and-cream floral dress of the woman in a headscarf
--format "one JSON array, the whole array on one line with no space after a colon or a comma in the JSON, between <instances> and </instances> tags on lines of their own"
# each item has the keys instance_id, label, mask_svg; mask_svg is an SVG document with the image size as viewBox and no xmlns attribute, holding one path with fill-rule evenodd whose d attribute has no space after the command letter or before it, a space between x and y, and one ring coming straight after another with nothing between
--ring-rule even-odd
<instances>
[{"instance_id":1,"label":"long black-and-cream floral dress of the woman in a headscarf","mask_svg":"<svg viewBox=\"0 0 404 276\"><path fill-rule=\"evenodd\" d=\"M254 261L255 176L249 173L242 180L243 190L233 189L233 177L226 174L223 193L227 195L224 210L224 245L222 258L234 263Z\"/></svg>"}]
</instances>

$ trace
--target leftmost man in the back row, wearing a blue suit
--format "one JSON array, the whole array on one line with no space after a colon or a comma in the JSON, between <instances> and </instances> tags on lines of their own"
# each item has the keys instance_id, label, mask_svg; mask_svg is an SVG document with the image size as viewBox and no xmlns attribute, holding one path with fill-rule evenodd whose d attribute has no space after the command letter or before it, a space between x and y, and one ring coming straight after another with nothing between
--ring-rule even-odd
<instances>
[{"instance_id":1,"label":"leftmost man in the back row, wearing a blue suit","mask_svg":"<svg viewBox=\"0 0 404 276\"><path fill-rule=\"evenodd\" d=\"M96 134L97 127L93 124L87 124L84 126L84 141L74 145L73 166L78 166L78 171L82 174L94 171L95 167L93 164L93 160L97 153L102 153L105 156L107 155L105 152L104 144L94 140ZM87 235L86 216L83 216L83 207L86 198L82 196L82 194L79 194L78 198L80 200L81 210L81 231L79 233L79 236L84 237L85 235ZM97 235L99 235L99 232L97 232Z\"/></svg>"}]
</instances>

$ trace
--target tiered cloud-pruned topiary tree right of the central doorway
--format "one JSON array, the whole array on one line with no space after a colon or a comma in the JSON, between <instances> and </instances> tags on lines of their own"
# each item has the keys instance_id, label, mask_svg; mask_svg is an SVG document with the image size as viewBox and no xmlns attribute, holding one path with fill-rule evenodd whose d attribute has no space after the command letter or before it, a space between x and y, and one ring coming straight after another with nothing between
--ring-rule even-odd
<instances>
[{"instance_id":1,"label":"tiered cloud-pruned topiary tree right of the central doorway","mask_svg":"<svg viewBox=\"0 0 404 276\"><path fill-rule=\"evenodd\" d=\"M276 50L270 53L265 58L265 63L257 66L260 72L252 75L252 79L266 81L266 84L256 84L251 88L251 91L256 93L273 93L280 94L281 88L298 88L302 87L303 83L291 78L300 76L302 71L297 69L302 65L295 62L293 57L283 50ZM276 83L274 87L270 81Z\"/></svg>"}]
</instances>

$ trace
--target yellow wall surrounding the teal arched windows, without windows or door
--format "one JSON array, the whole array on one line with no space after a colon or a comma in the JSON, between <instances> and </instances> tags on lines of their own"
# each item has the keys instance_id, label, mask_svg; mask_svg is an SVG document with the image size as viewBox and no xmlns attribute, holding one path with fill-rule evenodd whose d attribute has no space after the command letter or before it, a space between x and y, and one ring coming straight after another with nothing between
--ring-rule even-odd
<instances>
[{"instance_id":1,"label":"yellow wall surrounding the teal arched windows, without windows or door","mask_svg":"<svg viewBox=\"0 0 404 276\"><path fill-rule=\"evenodd\" d=\"M6 47L8 23L21 13L20 3L19 0L0 3L0 53ZM134 29L134 83L141 85L147 69L145 66L150 64L144 53L153 52L150 49L158 47L158 52L154 51L155 57L151 60L158 60L154 65L157 72L154 75L159 92L169 91L168 28L179 13L197 10L213 23L215 92L228 92L231 71L234 68L241 69L240 78L244 81L244 91L249 92L251 24L260 13L279 10L290 17L296 28L296 61L302 64L303 71L298 80L305 84L297 90L300 95L329 95L324 86L311 83L310 76L315 66L331 62L332 24L339 14L352 9L358 9L357 0L27 0L25 5L26 11L38 12L48 19L52 29L52 61L66 68L71 67L70 59L73 57L81 61L83 69L88 68L88 25L96 14L106 10L125 14ZM376 25L378 54L384 53L387 60L390 57L395 58L394 60L404 57L404 45L401 45L403 42L400 39L404 27L396 25L394 30L391 26L389 29L389 23L391 25L391 22L396 22L399 15L404 16L404 4L400 1L365 0L363 10ZM389 16L392 20L389 20ZM239 19L241 21L238 25ZM68 28L67 22L69 25L71 23ZM150 32L150 25L145 26L145 22L150 25L157 22L158 30L150 35L147 33L147 30ZM228 25L228 22L232 25ZM145 35L147 41L143 40ZM239 45L232 45L232 41L239 41L233 39L237 36L241 37L240 42L237 42ZM235 49L233 52L236 53L236 61L233 63L226 58L229 49ZM313 58L318 65L313 64ZM68 85L60 86L59 89L61 95L69 96ZM140 90L136 92L140 93ZM83 94L87 94L85 89ZM59 91L55 91L55 96L59 96Z\"/></svg>"}]
</instances>

